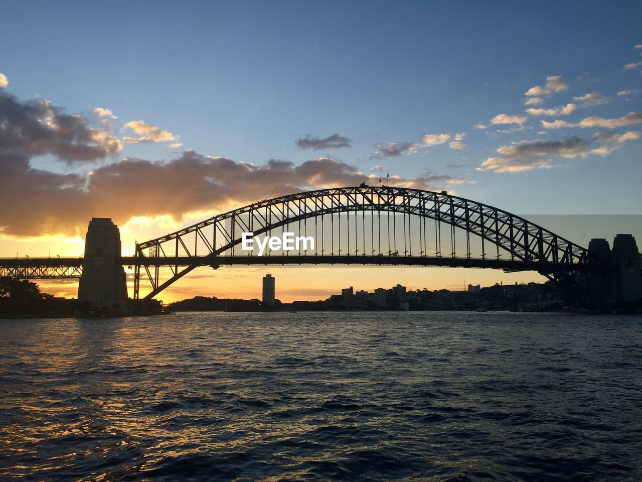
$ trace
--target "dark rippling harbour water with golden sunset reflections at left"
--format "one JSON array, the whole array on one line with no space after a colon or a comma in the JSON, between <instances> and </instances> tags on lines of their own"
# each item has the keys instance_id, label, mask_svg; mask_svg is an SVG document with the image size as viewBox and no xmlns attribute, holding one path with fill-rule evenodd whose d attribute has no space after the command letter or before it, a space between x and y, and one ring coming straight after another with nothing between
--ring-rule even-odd
<instances>
[{"instance_id":1,"label":"dark rippling harbour water with golden sunset reflections at left","mask_svg":"<svg viewBox=\"0 0 642 482\"><path fill-rule=\"evenodd\" d=\"M0 479L642 479L639 316L0 320L0 354Z\"/></svg>"}]
</instances>

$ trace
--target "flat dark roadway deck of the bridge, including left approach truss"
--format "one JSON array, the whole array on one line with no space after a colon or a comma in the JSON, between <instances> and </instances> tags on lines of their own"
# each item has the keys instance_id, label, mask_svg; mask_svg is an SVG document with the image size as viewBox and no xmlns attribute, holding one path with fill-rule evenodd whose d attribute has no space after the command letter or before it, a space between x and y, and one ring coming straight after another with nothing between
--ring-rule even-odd
<instances>
[{"instance_id":1,"label":"flat dark roadway deck of the bridge, including left approach truss","mask_svg":"<svg viewBox=\"0 0 642 482\"><path fill-rule=\"evenodd\" d=\"M446 256L305 256L304 254L268 256L166 256L162 258L140 258L123 256L121 265L144 266L256 266L256 265L395 265L395 266L432 266L460 268L503 269L506 272L537 271L557 274L568 271L592 271L591 265L566 265L539 261L521 261L493 258L456 258ZM80 278L83 258L0 258L0 276L14 278Z\"/></svg>"}]
</instances>

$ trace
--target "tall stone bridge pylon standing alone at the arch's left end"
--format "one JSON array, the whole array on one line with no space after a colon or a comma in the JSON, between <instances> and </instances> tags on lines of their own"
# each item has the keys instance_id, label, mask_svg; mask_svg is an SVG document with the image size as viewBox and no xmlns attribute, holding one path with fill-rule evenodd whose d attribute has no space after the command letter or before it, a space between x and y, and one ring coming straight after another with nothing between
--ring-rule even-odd
<instances>
[{"instance_id":1,"label":"tall stone bridge pylon standing alone at the arch's left end","mask_svg":"<svg viewBox=\"0 0 642 482\"><path fill-rule=\"evenodd\" d=\"M93 218L85 237L83 274L78 300L108 312L127 307L125 270L121 265L120 230L110 218Z\"/></svg>"}]
</instances>

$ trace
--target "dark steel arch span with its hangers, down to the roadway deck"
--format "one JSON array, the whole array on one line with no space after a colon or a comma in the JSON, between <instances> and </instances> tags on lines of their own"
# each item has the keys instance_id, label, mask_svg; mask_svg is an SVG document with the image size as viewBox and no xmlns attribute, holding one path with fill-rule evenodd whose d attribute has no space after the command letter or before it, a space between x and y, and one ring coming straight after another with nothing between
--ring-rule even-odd
<instances>
[{"instance_id":1,"label":"dark steel arch span with its hangers, down to the roadway deck","mask_svg":"<svg viewBox=\"0 0 642 482\"><path fill-rule=\"evenodd\" d=\"M239 253L243 233L273 231L313 236L315 247ZM136 244L133 264L136 299L153 298L205 265L481 267L537 271L571 283L591 268L587 249L508 211L445 191L365 184L265 199L216 215ZM141 279L151 287L144 296Z\"/></svg>"}]
</instances>

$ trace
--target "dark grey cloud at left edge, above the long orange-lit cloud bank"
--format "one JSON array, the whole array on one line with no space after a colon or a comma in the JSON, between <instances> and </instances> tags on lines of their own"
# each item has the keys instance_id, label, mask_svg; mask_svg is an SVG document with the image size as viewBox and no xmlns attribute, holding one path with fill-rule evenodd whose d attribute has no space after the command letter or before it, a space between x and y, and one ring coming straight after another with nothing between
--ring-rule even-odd
<instances>
[{"instance_id":1,"label":"dark grey cloud at left edge, above the long orange-lit cloud bank","mask_svg":"<svg viewBox=\"0 0 642 482\"><path fill-rule=\"evenodd\" d=\"M123 143L108 127L64 113L47 100L21 102L0 92L0 152L27 158L51 154L67 163L91 162L118 154Z\"/></svg>"}]
</instances>

